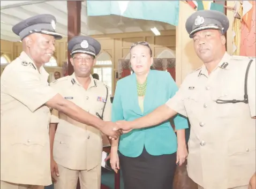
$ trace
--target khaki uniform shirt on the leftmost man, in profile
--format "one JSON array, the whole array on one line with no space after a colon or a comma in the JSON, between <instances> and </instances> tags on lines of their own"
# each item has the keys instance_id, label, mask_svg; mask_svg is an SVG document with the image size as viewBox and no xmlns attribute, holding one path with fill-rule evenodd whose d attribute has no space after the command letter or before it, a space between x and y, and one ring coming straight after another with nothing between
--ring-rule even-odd
<instances>
[{"instance_id":1,"label":"khaki uniform shirt on the leftmost man, in profile","mask_svg":"<svg viewBox=\"0 0 256 189\"><path fill-rule=\"evenodd\" d=\"M50 185L48 73L21 52L1 75L1 180Z\"/></svg>"}]
</instances>

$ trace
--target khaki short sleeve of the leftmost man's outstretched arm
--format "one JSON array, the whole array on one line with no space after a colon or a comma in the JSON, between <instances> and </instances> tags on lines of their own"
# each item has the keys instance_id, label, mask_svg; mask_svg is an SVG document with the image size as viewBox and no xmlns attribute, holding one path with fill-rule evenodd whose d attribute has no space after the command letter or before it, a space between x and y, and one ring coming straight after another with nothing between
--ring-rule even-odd
<instances>
[{"instance_id":1,"label":"khaki short sleeve of the leftmost man's outstretched arm","mask_svg":"<svg viewBox=\"0 0 256 189\"><path fill-rule=\"evenodd\" d=\"M6 92L34 112L57 93L47 82L42 82L34 70L12 70L4 81Z\"/></svg>"}]
</instances>

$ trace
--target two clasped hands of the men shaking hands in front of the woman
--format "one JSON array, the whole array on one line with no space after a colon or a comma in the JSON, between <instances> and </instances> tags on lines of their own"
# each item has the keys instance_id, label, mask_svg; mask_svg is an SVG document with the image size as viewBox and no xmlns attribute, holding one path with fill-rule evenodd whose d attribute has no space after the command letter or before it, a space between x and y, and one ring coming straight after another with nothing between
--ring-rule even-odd
<instances>
[{"instance_id":1,"label":"two clasped hands of the men shaking hands in front of the woman","mask_svg":"<svg viewBox=\"0 0 256 189\"><path fill-rule=\"evenodd\" d=\"M104 126L101 128L101 132L109 136L110 139L115 140L123 133L128 133L133 129L132 122L120 120L114 122L104 122Z\"/></svg>"}]
</instances>

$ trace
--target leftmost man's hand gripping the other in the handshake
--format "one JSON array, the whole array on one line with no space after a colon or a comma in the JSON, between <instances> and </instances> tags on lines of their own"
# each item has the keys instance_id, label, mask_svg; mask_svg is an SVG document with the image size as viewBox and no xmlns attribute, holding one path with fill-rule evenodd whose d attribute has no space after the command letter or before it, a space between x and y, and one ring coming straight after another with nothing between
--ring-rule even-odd
<instances>
[{"instance_id":1,"label":"leftmost man's hand gripping the other in the handshake","mask_svg":"<svg viewBox=\"0 0 256 189\"><path fill-rule=\"evenodd\" d=\"M122 131L119 130L118 125L113 122L105 122L106 124L101 128L101 131L109 136L112 140L117 139L121 134Z\"/></svg>"}]
</instances>

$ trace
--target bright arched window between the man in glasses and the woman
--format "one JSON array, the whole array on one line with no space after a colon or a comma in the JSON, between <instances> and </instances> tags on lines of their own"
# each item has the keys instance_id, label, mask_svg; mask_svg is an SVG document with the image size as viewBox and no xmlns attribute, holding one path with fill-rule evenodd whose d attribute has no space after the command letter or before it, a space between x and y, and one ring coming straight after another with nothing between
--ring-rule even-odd
<instances>
[{"instance_id":1,"label":"bright arched window between the man in glasses and the woman","mask_svg":"<svg viewBox=\"0 0 256 189\"><path fill-rule=\"evenodd\" d=\"M109 88L109 94L112 94L112 61L111 56L107 52L102 52L98 57L93 68L93 73L99 75L102 81Z\"/></svg>"}]
</instances>

